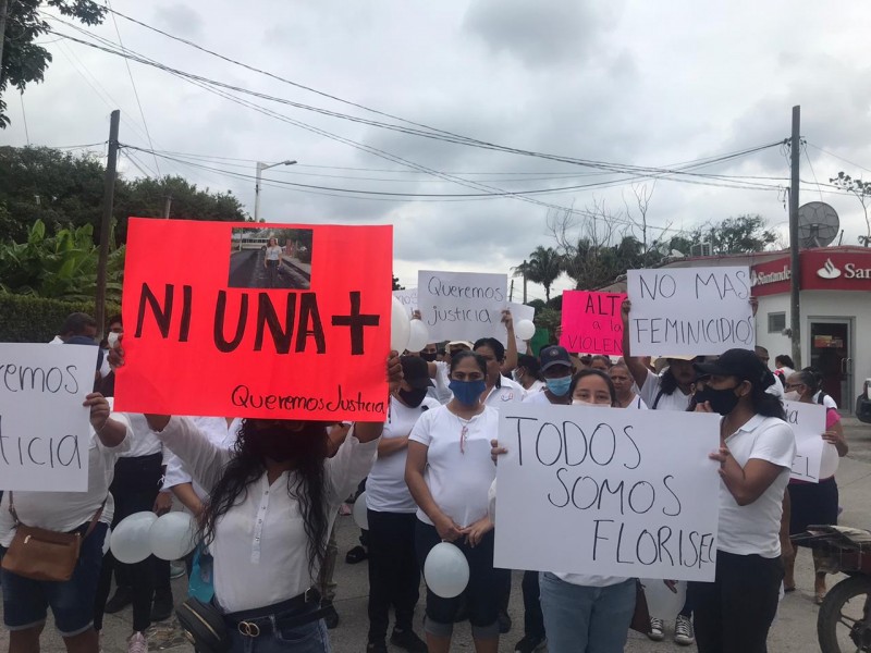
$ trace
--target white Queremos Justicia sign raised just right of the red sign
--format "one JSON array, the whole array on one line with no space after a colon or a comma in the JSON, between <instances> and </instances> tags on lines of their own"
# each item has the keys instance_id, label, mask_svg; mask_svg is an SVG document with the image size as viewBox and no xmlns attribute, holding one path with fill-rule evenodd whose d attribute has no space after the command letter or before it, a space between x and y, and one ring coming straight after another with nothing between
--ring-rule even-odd
<instances>
[{"instance_id":1,"label":"white Queremos Justicia sign raised just right of the red sign","mask_svg":"<svg viewBox=\"0 0 871 653\"><path fill-rule=\"evenodd\" d=\"M504 337L502 311L508 304L507 286L506 274L420 270L418 307L430 342Z\"/></svg>"}]
</instances>

